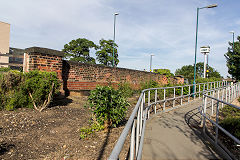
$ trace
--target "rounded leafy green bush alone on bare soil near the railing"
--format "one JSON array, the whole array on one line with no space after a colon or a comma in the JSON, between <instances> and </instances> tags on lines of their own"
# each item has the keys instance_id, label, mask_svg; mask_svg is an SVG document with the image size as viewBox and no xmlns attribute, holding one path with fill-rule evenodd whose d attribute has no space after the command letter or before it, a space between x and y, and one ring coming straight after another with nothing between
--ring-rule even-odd
<instances>
[{"instance_id":1,"label":"rounded leafy green bush alone on bare soil near the railing","mask_svg":"<svg viewBox=\"0 0 240 160\"><path fill-rule=\"evenodd\" d=\"M125 118L129 105L122 92L110 86L97 86L90 92L88 102L99 124L113 127Z\"/></svg>"}]
</instances>

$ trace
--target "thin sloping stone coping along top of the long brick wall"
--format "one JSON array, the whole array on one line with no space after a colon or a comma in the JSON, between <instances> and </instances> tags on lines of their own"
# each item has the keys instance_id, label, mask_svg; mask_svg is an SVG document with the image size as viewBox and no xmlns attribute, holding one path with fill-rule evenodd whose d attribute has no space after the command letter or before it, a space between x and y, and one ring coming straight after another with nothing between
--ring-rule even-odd
<instances>
[{"instance_id":1,"label":"thin sloping stone coping along top of the long brick wall","mask_svg":"<svg viewBox=\"0 0 240 160\"><path fill-rule=\"evenodd\" d=\"M112 68L113 68L113 67L105 66L105 65L102 65L102 64L88 64L88 63L81 63L81 62L68 61L68 60L64 60L64 61L66 61L67 63L70 63L70 64L79 65L79 66L84 65L84 66L102 67L102 68L109 68L109 69L112 69ZM150 73L150 74L153 74L153 75L159 75L158 73L153 73L153 72L148 72L148 71L134 70L134 69L129 69L129 68L114 67L114 69L134 71L134 72L144 72L144 73L148 73L148 74Z\"/></svg>"}]
</instances>

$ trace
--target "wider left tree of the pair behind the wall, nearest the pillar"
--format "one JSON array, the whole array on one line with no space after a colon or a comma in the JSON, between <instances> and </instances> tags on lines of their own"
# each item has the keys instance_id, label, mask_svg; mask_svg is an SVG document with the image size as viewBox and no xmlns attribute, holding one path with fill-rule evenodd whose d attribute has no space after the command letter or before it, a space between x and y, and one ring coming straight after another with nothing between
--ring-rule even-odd
<instances>
[{"instance_id":1,"label":"wider left tree of the pair behind the wall, nearest the pillar","mask_svg":"<svg viewBox=\"0 0 240 160\"><path fill-rule=\"evenodd\" d=\"M95 59L89 54L91 48L97 49L97 45L86 38L78 38L65 44L62 51L65 52L64 57L71 61L95 64Z\"/></svg>"}]
</instances>

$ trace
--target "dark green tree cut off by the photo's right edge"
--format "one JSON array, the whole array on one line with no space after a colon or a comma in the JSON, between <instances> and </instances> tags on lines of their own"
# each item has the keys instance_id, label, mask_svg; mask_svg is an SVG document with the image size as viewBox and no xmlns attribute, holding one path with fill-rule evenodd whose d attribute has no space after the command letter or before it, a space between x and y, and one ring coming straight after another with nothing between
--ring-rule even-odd
<instances>
[{"instance_id":1,"label":"dark green tree cut off by the photo's right edge","mask_svg":"<svg viewBox=\"0 0 240 160\"><path fill-rule=\"evenodd\" d=\"M224 56L227 59L228 73L236 80L240 80L240 36L237 39L238 41L234 42L234 50L233 43L229 42L230 47Z\"/></svg>"}]
</instances>

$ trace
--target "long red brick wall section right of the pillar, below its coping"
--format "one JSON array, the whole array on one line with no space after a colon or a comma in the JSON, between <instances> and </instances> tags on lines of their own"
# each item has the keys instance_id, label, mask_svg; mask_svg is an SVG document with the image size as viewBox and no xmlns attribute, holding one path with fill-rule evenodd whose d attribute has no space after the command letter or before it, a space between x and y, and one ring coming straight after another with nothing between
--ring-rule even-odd
<instances>
[{"instance_id":1,"label":"long red brick wall section right of the pillar, below its coping","mask_svg":"<svg viewBox=\"0 0 240 160\"><path fill-rule=\"evenodd\" d=\"M112 68L102 65L91 65L63 61L64 88L70 91L92 90L97 85L117 85L128 82L135 89L140 87L141 82L150 79L162 84L167 83L167 78L155 73L137 71L125 68Z\"/></svg>"}]
</instances>

